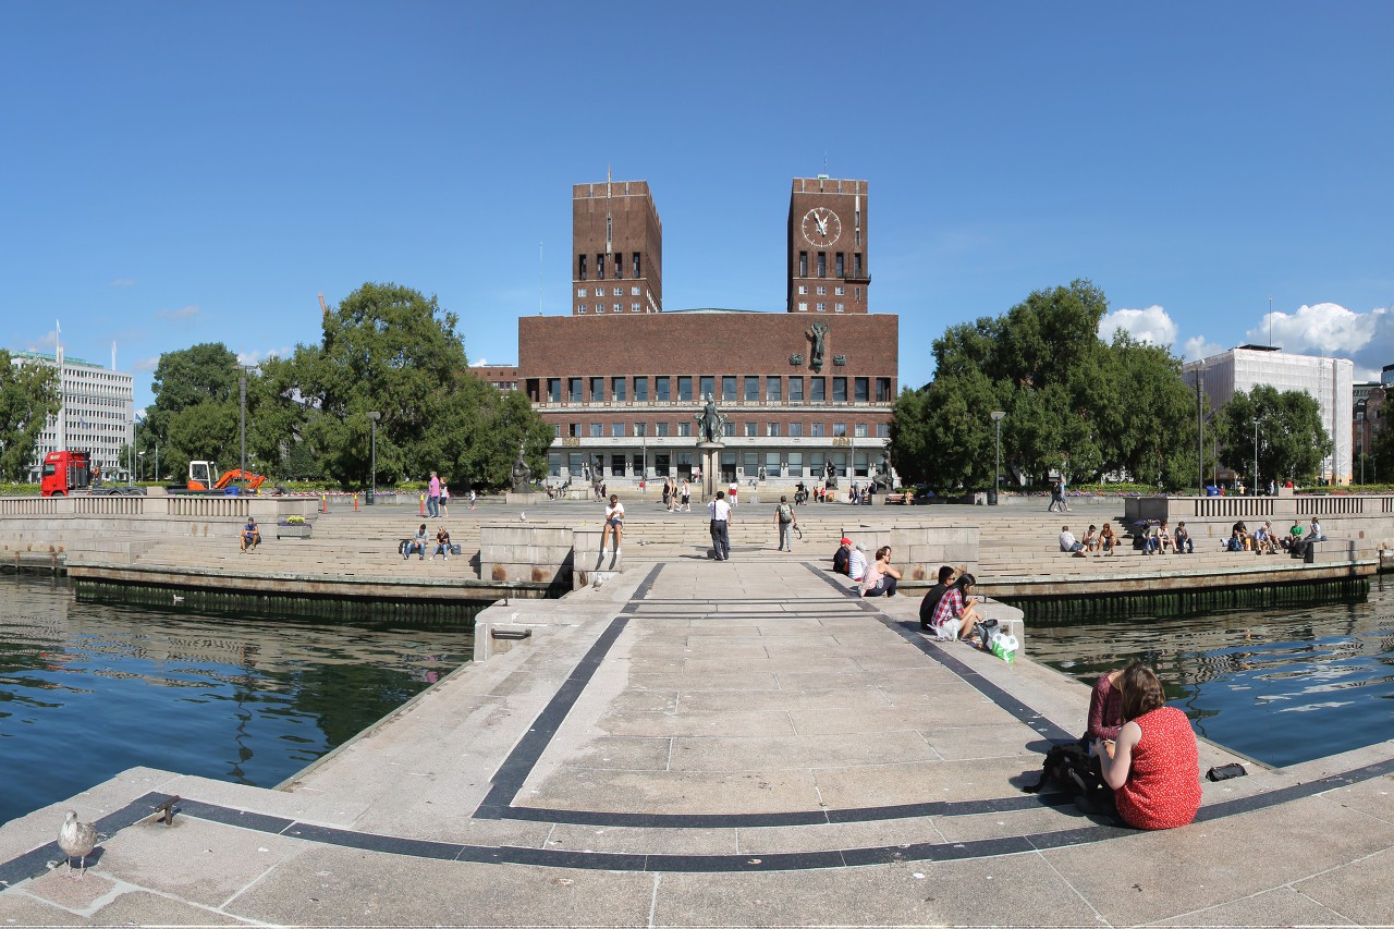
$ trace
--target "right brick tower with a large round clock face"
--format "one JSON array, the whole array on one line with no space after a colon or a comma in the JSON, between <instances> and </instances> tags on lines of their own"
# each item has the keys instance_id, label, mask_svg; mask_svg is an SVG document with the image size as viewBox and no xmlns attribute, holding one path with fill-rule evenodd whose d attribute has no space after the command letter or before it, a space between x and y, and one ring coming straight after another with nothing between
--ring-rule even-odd
<instances>
[{"instance_id":1,"label":"right brick tower with a large round clock face","mask_svg":"<svg viewBox=\"0 0 1394 929\"><path fill-rule=\"evenodd\" d=\"M867 183L796 177L789 197L789 312L866 312Z\"/></svg>"}]
</instances>

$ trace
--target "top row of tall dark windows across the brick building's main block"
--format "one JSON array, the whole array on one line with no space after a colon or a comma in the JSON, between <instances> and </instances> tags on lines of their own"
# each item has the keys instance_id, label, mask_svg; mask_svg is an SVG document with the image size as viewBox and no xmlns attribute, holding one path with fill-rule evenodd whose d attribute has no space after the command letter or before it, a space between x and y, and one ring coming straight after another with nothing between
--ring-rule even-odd
<instances>
[{"instance_id":1,"label":"top row of tall dark windows across the brick building's main block","mask_svg":"<svg viewBox=\"0 0 1394 929\"><path fill-rule=\"evenodd\" d=\"M807 381L809 400L818 403L829 399L828 381L832 381L831 399L835 403L845 403L846 400L855 400L857 403L867 403L875 399L877 403L889 403L891 396L891 378L863 378L863 377L783 377L779 374L767 374L761 378L757 374L747 374L737 377L735 374L721 375L721 399L723 402L746 400L758 402L765 400L768 403L783 403L785 399L790 403L803 403L804 399L804 381ZM608 384L606 384L608 381ZM613 400L616 403L625 403L629 400L630 388L633 388L633 398L636 403L648 403L650 381L654 386L654 400L658 403L666 403L669 400L691 402L694 399L705 399L707 396L717 396L717 375L703 374L696 378L687 374L680 374L676 377L659 375L655 378L648 378L647 375L634 375L633 378L618 375L611 378L591 377L591 378L546 378L546 399L551 403L562 402L562 391L566 389L566 399L570 403L584 403L590 400L591 403L599 403L604 400ZM676 384L675 384L676 381ZM761 384L764 381L764 384ZM873 384L874 381L874 384ZM588 384L587 384L588 382ZM696 384L694 384L696 382ZM587 386L590 391L587 392ZM697 388L697 393L693 393L693 388ZM764 391L761 392L761 386ZM850 386L852 393L848 393ZM875 393L873 393L873 386ZM609 392L606 393L606 388ZM676 388L676 395L673 389ZM786 393L788 388L788 393Z\"/></svg>"}]
</instances>

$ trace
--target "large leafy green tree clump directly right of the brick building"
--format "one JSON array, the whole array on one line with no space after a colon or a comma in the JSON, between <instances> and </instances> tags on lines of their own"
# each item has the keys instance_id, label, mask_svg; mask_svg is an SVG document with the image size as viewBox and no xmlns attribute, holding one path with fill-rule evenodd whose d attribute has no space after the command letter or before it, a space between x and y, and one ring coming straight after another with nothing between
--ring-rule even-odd
<instances>
[{"instance_id":1,"label":"large leafy green tree clump directly right of the brick building","mask_svg":"<svg viewBox=\"0 0 1394 929\"><path fill-rule=\"evenodd\" d=\"M934 382L896 400L896 470L948 490L991 485L990 413L1002 410L1005 473L1059 469L1080 481L1128 471L1181 485L1195 474L1181 361L1126 335L1101 342L1107 311L1103 292L1076 280L1037 290L1004 317L949 326L934 342Z\"/></svg>"}]
</instances>

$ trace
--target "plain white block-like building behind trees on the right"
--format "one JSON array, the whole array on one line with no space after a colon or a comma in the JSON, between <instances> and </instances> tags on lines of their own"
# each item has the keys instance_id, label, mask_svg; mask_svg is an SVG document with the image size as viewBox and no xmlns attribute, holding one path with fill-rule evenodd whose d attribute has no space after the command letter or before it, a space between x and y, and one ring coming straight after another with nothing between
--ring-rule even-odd
<instances>
[{"instance_id":1,"label":"plain white block-like building behind trees on the right","mask_svg":"<svg viewBox=\"0 0 1394 929\"><path fill-rule=\"evenodd\" d=\"M1281 349L1245 345L1190 361L1182 367L1181 377L1195 389L1197 374L1211 410L1218 410L1239 391L1248 392L1259 385L1302 391L1316 398L1322 424L1333 442L1331 455L1322 460L1322 477L1335 484L1351 483L1355 364L1349 358L1288 354Z\"/></svg>"}]
</instances>

